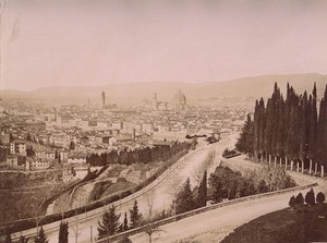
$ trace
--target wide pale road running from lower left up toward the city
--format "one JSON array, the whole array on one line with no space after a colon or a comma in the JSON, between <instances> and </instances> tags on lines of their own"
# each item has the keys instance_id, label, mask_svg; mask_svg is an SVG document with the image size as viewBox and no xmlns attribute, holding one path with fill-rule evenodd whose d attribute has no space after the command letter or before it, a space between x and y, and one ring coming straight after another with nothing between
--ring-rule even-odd
<instances>
[{"instance_id":1,"label":"wide pale road running from lower left up toward the city","mask_svg":"<svg viewBox=\"0 0 327 243\"><path fill-rule=\"evenodd\" d=\"M199 143L199 148L195 151L191 153L190 156L185 156L181 158L175 165L173 165L170 169L164 172L156 181L150 183L145 189L140 192L128 196L120 202L117 202L114 205L117 207L117 211L122 215L121 220L123 219L123 214L129 211L133 207L134 201L137 199L138 208L142 212L146 212L148 210L147 198L154 198L154 211L162 211L164 209L168 209L170 204L172 203L172 195L170 193L171 182L175 181L173 179L179 179L181 183L183 183L186 178L192 178L193 169L196 168L199 163L204 161L206 156L211 149L217 149L219 153L230 144L229 137L226 137L219 143L207 145L205 142ZM186 158L186 159L185 159ZM177 168L175 168L177 167ZM154 185L157 185L154 187ZM101 215L109 206L104 206L101 208L97 208L89 212L85 212L83 215L78 215L75 217L71 217L66 219L69 221L69 241L75 242L75 232L77 231L77 240L78 242L89 242L90 239L95 239L97 236L97 226L98 221L101 218ZM75 223L78 221L78 223ZM44 226L44 229L48 235L49 243L58 242L58 226L59 221ZM77 230L76 230L77 229ZM36 229L31 229L22 232L23 235L31 235L36 232ZM21 235L17 233L15 236Z\"/></svg>"}]
</instances>

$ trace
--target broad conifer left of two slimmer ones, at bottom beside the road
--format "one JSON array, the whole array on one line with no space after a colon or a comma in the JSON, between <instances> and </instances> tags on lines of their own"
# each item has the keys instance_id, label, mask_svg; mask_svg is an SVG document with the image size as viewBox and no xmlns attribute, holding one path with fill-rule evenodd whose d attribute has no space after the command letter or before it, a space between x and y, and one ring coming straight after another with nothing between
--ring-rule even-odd
<instances>
[{"instance_id":1,"label":"broad conifer left of two slimmer ones, at bottom beside the road","mask_svg":"<svg viewBox=\"0 0 327 243\"><path fill-rule=\"evenodd\" d=\"M120 215L116 214L116 207L112 205L109 211L102 215L102 221L98 222L99 239L110 236L118 232L120 227L119 218Z\"/></svg>"}]
</instances>

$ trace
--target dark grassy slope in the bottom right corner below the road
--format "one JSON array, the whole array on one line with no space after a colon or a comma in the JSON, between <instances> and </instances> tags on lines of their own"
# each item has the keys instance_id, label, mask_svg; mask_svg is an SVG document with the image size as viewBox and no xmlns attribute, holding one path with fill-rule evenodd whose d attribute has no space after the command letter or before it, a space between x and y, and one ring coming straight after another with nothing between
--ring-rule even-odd
<instances>
[{"instance_id":1,"label":"dark grassy slope in the bottom right corner below the road","mask_svg":"<svg viewBox=\"0 0 327 243\"><path fill-rule=\"evenodd\" d=\"M304 243L327 241L327 205L282 209L245 223L229 234L222 243Z\"/></svg>"}]
</instances>

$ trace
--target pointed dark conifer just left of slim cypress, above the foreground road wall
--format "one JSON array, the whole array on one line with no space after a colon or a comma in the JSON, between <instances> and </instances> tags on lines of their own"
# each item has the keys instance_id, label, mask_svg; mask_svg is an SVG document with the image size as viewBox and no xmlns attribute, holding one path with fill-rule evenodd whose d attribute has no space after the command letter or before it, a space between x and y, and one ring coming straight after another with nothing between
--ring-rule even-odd
<instances>
[{"instance_id":1,"label":"pointed dark conifer just left of slim cypress, above the foreground road wall","mask_svg":"<svg viewBox=\"0 0 327 243\"><path fill-rule=\"evenodd\" d=\"M183 212L195 209L195 207L196 207L196 204L193 198L190 178L187 178L183 187L177 195L175 210L177 210L177 214L183 214Z\"/></svg>"}]
</instances>

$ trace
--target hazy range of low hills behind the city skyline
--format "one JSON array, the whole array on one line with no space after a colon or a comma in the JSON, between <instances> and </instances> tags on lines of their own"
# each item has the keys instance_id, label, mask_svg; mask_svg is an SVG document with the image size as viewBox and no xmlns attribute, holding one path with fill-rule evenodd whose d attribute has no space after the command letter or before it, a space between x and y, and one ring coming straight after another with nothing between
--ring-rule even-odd
<instances>
[{"instance_id":1,"label":"hazy range of low hills behind the city skyline","mask_svg":"<svg viewBox=\"0 0 327 243\"><path fill-rule=\"evenodd\" d=\"M171 101L173 95L181 89L187 102L221 102L221 101L254 101L259 97L269 97L274 83L277 82L286 95L287 83L298 93L313 89L316 82L318 97L323 96L327 84L327 75L290 74L290 75L263 75L244 77L226 82L209 83L117 83L99 87L47 87L32 92L0 90L3 100L22 100L33 102L56 104L92 104L101 102L101 92L106 93L107 104L140 104L150 99L157 93L158 100Z\"/></svg>"}]
</instances>

